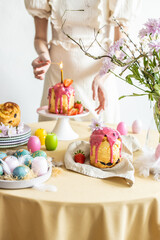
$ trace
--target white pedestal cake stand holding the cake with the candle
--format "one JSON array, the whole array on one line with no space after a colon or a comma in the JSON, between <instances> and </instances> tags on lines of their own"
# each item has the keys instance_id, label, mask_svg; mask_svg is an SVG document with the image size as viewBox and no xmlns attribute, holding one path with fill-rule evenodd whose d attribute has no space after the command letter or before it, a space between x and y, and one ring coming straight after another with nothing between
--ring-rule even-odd
<instances>
[{"instance_id":1,"label":"white pedestal cake stand holding the cake with the candle","mask_svg":"<svg viewBox=\"0 0 160 240\"><path fill-rule=\"evenodd\" d=\"M50 113L48 112L48 106L43 106L37 109L37 113L45 117L57 119L56 126L53 128L52 132L57 135L58 140L73 140L77 139L79 135L71 128L69 120L71 118L85 117L89 114L89 111L84 111L81 114L73 116L67 116Z\"/></svg>"}]
</instances>

